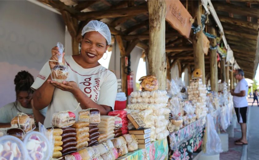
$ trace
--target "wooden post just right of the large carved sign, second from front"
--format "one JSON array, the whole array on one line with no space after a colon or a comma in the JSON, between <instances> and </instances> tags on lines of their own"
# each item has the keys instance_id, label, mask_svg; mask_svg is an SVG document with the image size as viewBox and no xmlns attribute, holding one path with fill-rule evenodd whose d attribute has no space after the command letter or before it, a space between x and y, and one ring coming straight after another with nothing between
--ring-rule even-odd
<instances>
[{"instance_id":1,"label":"wooden post just right of the large carved sign, second from front","mask_svg":"<svg viewBox=\"0 0 259 160\"><path fill-rule=\"evenodd\" d=\"M191 1L192 3L192 15L196 17L197 24L202 27L201 23L201 5L200 1ZM205 65L204 65L204 53L202 42L202 29L193 34L193 54L194 54L194 68L202 70L202 82L205 84Z\"/></svg>"}]
</instances>

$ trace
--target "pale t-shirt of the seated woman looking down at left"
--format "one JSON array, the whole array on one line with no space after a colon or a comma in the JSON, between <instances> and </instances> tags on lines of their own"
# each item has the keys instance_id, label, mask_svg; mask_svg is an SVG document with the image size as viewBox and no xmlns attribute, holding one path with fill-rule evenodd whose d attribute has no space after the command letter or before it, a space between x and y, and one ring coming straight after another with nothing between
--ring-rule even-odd
<instances>
[{"instance_id":1,"label":"pale t-shirt of the seated woman looking down at left","mask_svg":"<svg viewBox=\"0 0 259 160\"><path fill-rule=\"evenodd\" d=\"M0 123L10 123L11 120L17 116L18 112L23 112L25 114L33 115L31 108L24 108L20 102L8 103L7 105L0 108ZM46 116L47 108L39 111L43 116Z\"/></svg>"}]
</instances>

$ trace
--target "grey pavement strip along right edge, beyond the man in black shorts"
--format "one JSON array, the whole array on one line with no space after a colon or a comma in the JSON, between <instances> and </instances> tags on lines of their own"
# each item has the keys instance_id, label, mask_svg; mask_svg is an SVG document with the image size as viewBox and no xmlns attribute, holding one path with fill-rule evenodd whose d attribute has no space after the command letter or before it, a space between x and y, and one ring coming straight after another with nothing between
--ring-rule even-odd
<instances>
[{"instance_id":1,"label":"grey pavement strip along right edge, beyond the man in black shorts","mask_svg":"<svg viewBox=\"0 0 259 160\"><path fill-rule=\"evenodd\" d=\"M249 105L252 105L253 98L249 98ZM248 159L259 160L259 107L254 103L250 107L250 117L248 124Z\"/></svg>"}]
</instances>

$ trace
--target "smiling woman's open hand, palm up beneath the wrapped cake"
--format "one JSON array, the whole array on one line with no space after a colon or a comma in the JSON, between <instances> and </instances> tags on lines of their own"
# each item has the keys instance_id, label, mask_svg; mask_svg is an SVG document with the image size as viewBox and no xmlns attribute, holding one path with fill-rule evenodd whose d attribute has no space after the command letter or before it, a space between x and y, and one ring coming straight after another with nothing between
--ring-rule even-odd
<instances>
[{"instance_id":1,"label":"smiling woman's open hand, palm up beneath the wrapped cake","mask_svg":"<svg viewBox=\"0 0 259 160\"><path fill-rule=\"evenodd\" d=\"M74 81L63 81L62 83L60 83L56 81L47 80L47 82L50 83L52 86L59 88L60 90L68 91L72 94L74 94L79 89L76 82Z\"/></svg>"}]
</instances>

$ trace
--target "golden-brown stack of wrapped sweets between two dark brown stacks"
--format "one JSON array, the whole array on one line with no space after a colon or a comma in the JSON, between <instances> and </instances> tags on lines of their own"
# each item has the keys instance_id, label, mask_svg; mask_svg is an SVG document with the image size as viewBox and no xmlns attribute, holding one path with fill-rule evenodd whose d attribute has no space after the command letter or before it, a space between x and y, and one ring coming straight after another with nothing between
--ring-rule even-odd
<instances>
[{"instance_id":1,"label":"golden-brown stack of wrapped sweets between two dark brown stacks","mask_svg":"<svg viewBox=\"0 0 259 160\"><path fill-rule=\"evenodd\" d=\"M87 147L89 139L89 123L88 122L76 122L72 125L76 129L76 148L78 150Z\"/></svg>"}]
</instances>

